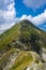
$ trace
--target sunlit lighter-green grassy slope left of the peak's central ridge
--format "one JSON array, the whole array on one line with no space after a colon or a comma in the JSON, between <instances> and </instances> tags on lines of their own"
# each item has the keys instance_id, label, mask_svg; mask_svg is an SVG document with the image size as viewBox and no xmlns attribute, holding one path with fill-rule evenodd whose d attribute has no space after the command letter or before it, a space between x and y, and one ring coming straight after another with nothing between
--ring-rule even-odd
<instances>
[{"instance_id":1,"label":"sunlit lighter-green grassy slope left of the peak's central ridge","mask_svg":"<svg viewBox=\"0 0 46 70\"><path fill-rule=\"evenodd\" d=\"M20 25L16 24L13 28L0 34L0 50L4 48L6 44L11 43L13 40L16 40L20 33Z\"/></svg>"}]
</instances>

